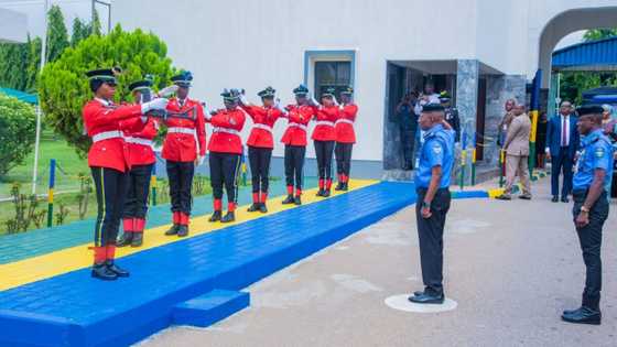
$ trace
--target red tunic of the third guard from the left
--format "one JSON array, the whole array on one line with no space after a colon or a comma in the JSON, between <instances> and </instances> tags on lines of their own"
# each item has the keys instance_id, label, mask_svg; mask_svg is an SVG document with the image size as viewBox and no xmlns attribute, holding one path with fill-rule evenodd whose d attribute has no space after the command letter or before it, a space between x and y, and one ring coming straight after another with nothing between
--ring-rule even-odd
<instances>
[{"instance_id":1,"label":"red tunic of the third guard from the left","mask_svg":"<svg viewBox=\"0 0 617 347\"><path fill-rule=\"evenodd\" d=\"M167 135L163 142L163 158L174 162L192 162L197 155L206 155L206 122L204 108L197 100L188 99L180 107L177 98L170 99L167 111L185 112L195 108L197 118L170 117L165 120Z\"/></svg>"}]
</instances>

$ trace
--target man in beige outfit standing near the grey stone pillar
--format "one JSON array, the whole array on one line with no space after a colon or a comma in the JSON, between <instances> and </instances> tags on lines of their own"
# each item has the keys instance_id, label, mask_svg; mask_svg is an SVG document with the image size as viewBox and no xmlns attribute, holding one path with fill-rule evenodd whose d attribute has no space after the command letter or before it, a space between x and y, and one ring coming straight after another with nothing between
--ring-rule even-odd
<instances>
[{"instance_id":1,"label":"man in beige outfit standing near the grey stone pillar","mask_svg":"<svg viewBox=\"0 0 617 347\"><path fill-rule=\"evenodd\" d=\"M522 194L519 196L523 199L531 199L531 186L529 183L529 133L531 131L531 121L524 112L524 105L517 105L512 109L513 119L508 127L508 134L504 141L506 150L506 189L504 194L497 196L498 199L511 199L510 193L515 178L518 175L522 184Z\"/></svg>"}]
</instances>

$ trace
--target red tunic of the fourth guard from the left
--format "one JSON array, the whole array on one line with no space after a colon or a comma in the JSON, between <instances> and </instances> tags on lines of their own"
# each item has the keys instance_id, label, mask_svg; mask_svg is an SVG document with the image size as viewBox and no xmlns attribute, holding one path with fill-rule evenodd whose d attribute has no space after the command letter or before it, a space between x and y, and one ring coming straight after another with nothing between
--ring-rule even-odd
<instances>
[{"instance_id":1,"label":"red tunic of the fourth guard from the left","mask_svg":"<svg viewBox=\"0 0 617 347\"><path fill-rule=\"evenodd\" d=\"M208 151L242 154L240 131L242 131L245 120L245 111L241 108L218 110L209 120L214 129Z\"/></svg>"}]
</instances>

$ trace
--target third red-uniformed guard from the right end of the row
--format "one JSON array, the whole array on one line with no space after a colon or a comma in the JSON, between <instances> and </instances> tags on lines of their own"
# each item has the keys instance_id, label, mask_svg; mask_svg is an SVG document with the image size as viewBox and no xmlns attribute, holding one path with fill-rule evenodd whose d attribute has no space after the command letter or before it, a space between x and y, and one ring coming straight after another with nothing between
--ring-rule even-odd
<instances>
[{"instance_id":1,"label":"third red-uniformed guard from the right end of the row","mask_svg":"<svg viewBox=\"0 0 617 347\"><path fill-rule=\"evenodd\" d=\"M311 119L316 116L317 109L308 105L308 89L300 85L293 89L295 105L289 105L286 109L288 129L281 139L285 144L285 181L288 185L288 197L283 204L301 205L302 180L304 156L306 154L306 127ZM293 192L295 183L295 196Z\"/></svg>"}]
</instances>

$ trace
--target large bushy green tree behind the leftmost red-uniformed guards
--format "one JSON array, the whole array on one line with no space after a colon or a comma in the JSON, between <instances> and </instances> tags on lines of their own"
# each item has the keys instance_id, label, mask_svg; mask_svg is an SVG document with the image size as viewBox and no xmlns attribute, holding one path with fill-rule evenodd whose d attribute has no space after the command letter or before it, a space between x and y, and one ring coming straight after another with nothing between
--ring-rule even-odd
<instances>
[{"instance_id":1,"label":"large bushy green tree behind the leftmost red-uniformed guards","mask_svg":"<svg viewBox=\"0 0 617 347\"><path fill-rule=\"evenodd\" d=\"M77 46L67 48L43 69L39 96L46 122L84 155L90 140L84 133L82 108L91 98L87 71L121 66L117 100L127 100L128 85L144 75L154 76L154 85L166 85L172 76L167 47L152 33L141 30L125 32L117 25L109 35L91 35Z\"/></svg>"}]
</instances>

